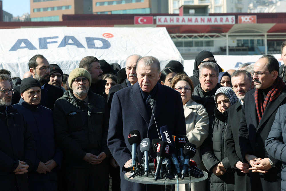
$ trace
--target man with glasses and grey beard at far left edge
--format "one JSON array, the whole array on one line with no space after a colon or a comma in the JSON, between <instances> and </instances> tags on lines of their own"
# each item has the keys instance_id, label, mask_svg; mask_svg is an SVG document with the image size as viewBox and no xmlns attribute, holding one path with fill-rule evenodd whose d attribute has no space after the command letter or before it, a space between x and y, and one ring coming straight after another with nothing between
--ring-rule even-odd
<instances>
[{"instance_id":1,"label":"man with glasses and grey beard at far left edge","mask_svg":"<svg viewBox=\"0 0 286 191\"><path fill-rule=\"evenodd\" d=\"M35 161L35 141L23 116L11 106L9 77L0 75L1 190L29 190L28 171Z\"/></svg>"}]
</instances>

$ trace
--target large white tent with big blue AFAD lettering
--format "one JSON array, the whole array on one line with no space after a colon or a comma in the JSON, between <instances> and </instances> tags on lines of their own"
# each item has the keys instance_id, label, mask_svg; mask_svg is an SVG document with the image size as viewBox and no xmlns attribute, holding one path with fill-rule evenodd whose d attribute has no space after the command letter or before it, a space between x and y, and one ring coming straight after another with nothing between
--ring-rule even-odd
<instances>
[{"instance_id":1,"label":"large white tent with big blue AFAD lettering","mask_svg":"<svg viewBox=\"0 0 286 191\"><path fill-rule=\"evenodd\" d=\"M69 74L85 56L95 56L123 68L129 55L155 56L161 67L170 60L183 62L166 28L47 27L0 29L0 68L23 77L28 62L42 54Z\"/></svg>"}]
</instances>

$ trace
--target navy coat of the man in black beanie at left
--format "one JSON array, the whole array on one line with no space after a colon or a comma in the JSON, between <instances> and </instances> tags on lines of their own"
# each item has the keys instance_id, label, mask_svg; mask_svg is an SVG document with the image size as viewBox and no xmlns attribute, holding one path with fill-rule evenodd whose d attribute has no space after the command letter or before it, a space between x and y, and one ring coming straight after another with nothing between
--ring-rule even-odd
<instances>
[{"instance_id":1,"label":"navy coat of the man in black beanie at left","mask_svg":"<svg viewBox=\"0 0 286 191\"><path fill-rule=\"evenodd\" d=\"M34 168L29 172L29 189L31 190L55 190L57 188L57 169L54 168L46 174L36 172L39 162L47 162L53 159L61 166L62 153L55 145L53 127L53 112L41 105L29 105L22 98L18 104L13 105L24 116L28 127L33 133L36 143L36 158Z\"/></svg>"}]
</instances>

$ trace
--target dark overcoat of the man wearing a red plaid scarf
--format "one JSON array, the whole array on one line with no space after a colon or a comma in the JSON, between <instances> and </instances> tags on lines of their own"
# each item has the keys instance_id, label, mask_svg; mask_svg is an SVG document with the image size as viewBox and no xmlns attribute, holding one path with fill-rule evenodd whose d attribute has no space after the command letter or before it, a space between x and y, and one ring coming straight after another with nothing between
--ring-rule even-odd
<instances>
[{"instance_id":1,"label":"dark overcoat of the man wearing a red plaid scarf","mask_svg":"<svg viewBox=\"0 0 286 191\"><path fill-rule=\"evenodd\" d=\"M250 172L251 190L281 190L281 162L265 149L265 140L273 125L279 106L286 103L285 90L277 99L269 102L260 122L254 99L255 89L245 94L242 107L242 117L239 123L239 145L242 156L249 153L259 158L270 158L276 165L267 173ZM246 162L246 160L245 160Z\"/></svg>"}]
</instances>

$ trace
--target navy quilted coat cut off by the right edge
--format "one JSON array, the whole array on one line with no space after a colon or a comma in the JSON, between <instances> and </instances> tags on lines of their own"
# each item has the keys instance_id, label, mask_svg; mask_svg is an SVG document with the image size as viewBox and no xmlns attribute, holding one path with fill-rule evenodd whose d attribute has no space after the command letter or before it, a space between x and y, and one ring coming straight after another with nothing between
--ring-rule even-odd
<instances>
[{"instance_id":1,"label":"navy quilted coat cut off by the right edge","mask_svg":"<svg viewBox=\"0 0 286 191\"><path fill-rule=\"evenodd\" d=\"M281 190L286 190L286 105L281 105L275 115L271 131L266 139L266 150L277 160L282 161ZM278 167L279 168L279 167Z\"/></svg>"}]
</instances>

